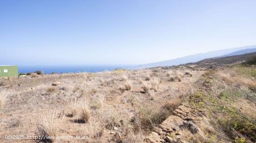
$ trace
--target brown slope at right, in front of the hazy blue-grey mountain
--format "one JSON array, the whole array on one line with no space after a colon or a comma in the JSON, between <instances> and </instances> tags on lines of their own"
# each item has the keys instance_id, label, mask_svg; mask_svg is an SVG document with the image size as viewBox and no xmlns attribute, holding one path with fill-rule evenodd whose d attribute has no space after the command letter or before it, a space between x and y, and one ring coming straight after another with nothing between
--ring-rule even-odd
<instances>
[{"instance_id":1,"label":"brown slope at right, in front of the hazy blue-grey mountain","mask_svg":"<svg viewBox=\"0 0 256 143\"><path fill-rule=\"evenodd\" d=\"M163 67L164 69L192 69L192 70L204 70L209 68L219 68L225 66L236 65L244 62L245 60L256 56L256 52L236 55L236 56L226 56L226 57L215 57L204 59L198 62L186 63L178 66Z\"/></svg>"}]
</instances>

